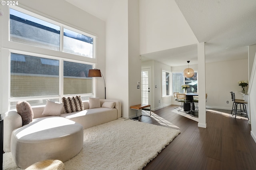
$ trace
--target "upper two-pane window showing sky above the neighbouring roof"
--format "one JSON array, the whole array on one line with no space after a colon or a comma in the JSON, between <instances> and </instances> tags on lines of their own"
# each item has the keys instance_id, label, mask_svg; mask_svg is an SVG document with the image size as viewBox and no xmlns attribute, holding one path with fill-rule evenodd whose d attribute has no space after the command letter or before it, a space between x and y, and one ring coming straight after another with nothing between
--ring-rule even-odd
<instances>
[{"instance_id":1,"label":"upper two-pane window showing sky above the neighbouring roof","mask_svg":"<svg viewBox=\"0 0 256 170\"><path fill-rule=\"evenodd\" d=\"M94 36L29 13L10 8L10 41L94 57Z\"/></svg>"}]
</instances>

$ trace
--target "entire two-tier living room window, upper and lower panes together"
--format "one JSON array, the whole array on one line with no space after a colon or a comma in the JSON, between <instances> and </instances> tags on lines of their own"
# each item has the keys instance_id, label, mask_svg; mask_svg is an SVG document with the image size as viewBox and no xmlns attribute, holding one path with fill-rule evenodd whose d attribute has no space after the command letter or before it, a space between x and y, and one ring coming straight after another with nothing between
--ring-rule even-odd
<instances>
[{"instance_id":1,"label":"entire two-tier living room window, upper and lower panes together","mask_svg":"<svg viewBox=\"0 0 256 170\"><path fill-rule=\"evenodd\" d=\"M73 95L82 100L94 97L93 79L87 77L94 64L73 57L95 58L96 37L17 6L10 6L9 12L9 41L24 47L24 51L18 51L16 45L9 49L9 109L23 100L35 106L45 105L46 99L61 102L62 97ZM48 50L30 53L34 47ZM51 50L55 57L49 55Z\"/></svg>"}]
</instances>

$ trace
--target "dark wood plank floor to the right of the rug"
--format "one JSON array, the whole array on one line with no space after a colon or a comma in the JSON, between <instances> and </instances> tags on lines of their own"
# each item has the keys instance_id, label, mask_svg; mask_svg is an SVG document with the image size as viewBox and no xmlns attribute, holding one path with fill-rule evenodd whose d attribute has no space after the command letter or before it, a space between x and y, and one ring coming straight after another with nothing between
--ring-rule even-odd
<instances>
[{"instance_id":1,"label":"dark wood plank floor to the right of the rug","mask_svg":"<svg viewBox=\"0 0 256 170\"><path fill-rule=\"evenodd\" d=\"M174 107L140 117L155 125L172 123L181 131L143 170L256 170L256 143L248 120L207 112L207 128L199 128L196 121L173 113Z\"/></svg>"}]
</instances>

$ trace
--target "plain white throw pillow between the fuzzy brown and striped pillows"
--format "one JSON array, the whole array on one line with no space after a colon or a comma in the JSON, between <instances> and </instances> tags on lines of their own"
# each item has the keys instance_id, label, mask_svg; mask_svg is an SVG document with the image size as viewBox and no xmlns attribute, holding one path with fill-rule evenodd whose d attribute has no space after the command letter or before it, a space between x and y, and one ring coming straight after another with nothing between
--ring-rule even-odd
<instances>
[{"instance_id":1,"label":"plain white throw pillow between the fuzzy brown and striped pillows","mask_svg":"<svg viewBox=\"0 0 256 170\"><path fill-rule=\"evenodd\" d=\"M62 113L64 113L62 103L46 100L46 106L42 115L58 116Z\"/></svg>"}]
</instances>

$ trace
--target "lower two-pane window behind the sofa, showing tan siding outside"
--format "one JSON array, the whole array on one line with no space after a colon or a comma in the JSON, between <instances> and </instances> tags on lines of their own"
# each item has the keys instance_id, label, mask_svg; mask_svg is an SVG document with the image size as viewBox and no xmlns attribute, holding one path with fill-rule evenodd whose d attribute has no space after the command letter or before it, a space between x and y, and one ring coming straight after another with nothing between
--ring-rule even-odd
<instances>
[{"instance_id":1,"label":"lower two-pane window behind the sofa, showing tan siding outside","mask_svg":"<svg viewBox=\"0 0 256 170\"><path fill-rule=\"evenodd\" d=\"M61 102L61 97L71 95L88 100L93 97L89 69L91 64L10 53L10 109L20 100L32 106L45 105L45 99Z\"/></svg>"}]
</instances>

